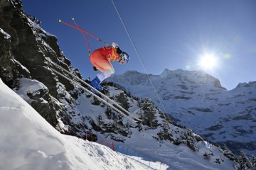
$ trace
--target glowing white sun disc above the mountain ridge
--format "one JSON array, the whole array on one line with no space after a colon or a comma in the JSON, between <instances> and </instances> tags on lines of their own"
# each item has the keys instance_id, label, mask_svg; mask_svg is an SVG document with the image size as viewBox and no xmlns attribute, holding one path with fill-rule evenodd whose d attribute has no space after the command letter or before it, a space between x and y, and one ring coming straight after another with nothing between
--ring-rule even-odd
<instances>
[{"instance_id":1,"label":"glowing white sun disc above the mountain ridge","mask_svg":"<svg viewBox=\"0 0 256 170\"><path fill-rule=\"evenodd\" d=\"M216 67L217 64L217 58L213 54L208 54L206 53L203 55L200 60L198 65L202 67L203 69L213 69Z\"/></svg>"}]
</instances>

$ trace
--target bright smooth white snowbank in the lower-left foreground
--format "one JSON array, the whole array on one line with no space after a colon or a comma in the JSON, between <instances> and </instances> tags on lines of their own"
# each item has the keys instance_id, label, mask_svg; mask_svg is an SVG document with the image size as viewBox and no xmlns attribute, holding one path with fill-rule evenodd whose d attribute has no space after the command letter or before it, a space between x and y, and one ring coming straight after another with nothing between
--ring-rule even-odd
<instances>
[{"instance_id":1,"label":"bright smooth white snowbank in the lower-left foreground","mask_svg":"<svg viewBox=\"0 0 256 170\"><path fill-rule=\"evenodd\" d=\"M110 148L61 135L0 79L0 169L145 169Z\"/></svg>"}]
</instances>

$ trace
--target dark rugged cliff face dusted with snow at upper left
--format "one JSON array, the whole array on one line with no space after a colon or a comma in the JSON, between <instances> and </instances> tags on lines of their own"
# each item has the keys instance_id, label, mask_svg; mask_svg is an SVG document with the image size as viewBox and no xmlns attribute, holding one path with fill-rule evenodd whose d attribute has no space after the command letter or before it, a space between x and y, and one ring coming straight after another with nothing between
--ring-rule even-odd
<instances>
[{"instance_id":1,"label":"dark rugged cliff face dusted with snow at upper left","mask_svg":"<svg viewBox=\"0 0 256 170\"><path fill-rule=\"evenodd\" d=\"M60 115L68 120L68 111L62 104L72 98L65 98L66 91L75 91L69 81L56 77L49 69L51 62L70 69L70 61L60 51L57 38L31 22L24 14L21 1L0 1L0 77L11 89L21 84L21 78L36 79L46 86L38 91L26 91L24 98L43 118L56 127ZM63 89L63 90L60 90Z\"/></svg>"}]
</instances>

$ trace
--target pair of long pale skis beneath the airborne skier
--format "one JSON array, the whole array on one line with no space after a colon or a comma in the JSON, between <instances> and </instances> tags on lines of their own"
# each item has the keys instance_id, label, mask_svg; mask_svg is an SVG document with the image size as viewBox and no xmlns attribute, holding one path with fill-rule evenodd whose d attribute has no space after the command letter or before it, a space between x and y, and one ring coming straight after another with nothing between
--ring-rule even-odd
<instances>
[{"instance_id":1,"label":"pair of long pale skis beneath the airborne skier","mask_svg":"<svg viewBox=\"0 0 256 170\"><path fill-rule=\"evenodd\" d=\"M118 113L121 113L122 115L124 115L125 117L129 118L129 120L132 120L136 123L141 122L142 120L139 118L136 118L134 115L132 115L132 113L129 113L127 110L125 110L124 108L122 108L122 106L119 106L118 103L116 103L115 101L113 101L111 98L107 97L105 94L102 94L102 92L98 91L97 89L95 89L93 86L91 86L90 84L87 84L85 81L83 81L82 79L80 79L79 77L75 76L74 74L72 74L71 72L68 72L68 70L64 69L63 67L60 67L59 65L53 63L55 65L55 67L58 67L58 69L61 69L63 72L69 74L71 77L73 77L74 79L77 79L78 81L80 81L82 84L85 84L86 86L89 86L91 89L93 89L93 91L97 91L98 94L100 94L103 98L101 98L100 96L98 96L97 94L93 93L92 91L90 91L89 89L85 88L84 86L78 84L77 81L74 81L73 79L70 79L68 77L66 77L64 74L58 72L57 70L50 68L53 72L55 72L56 74L60 75L61 77L63 77L64 79L68 79L68 81L72 82L73 84L78 85L81 89L84 89L85 91L87 91L89 94L92 94L92 96L95 96L97 99L99 99L100 101L102 101L103 103L106 103L107 106L110 106L111 108L114 109L114 111L117 111ZM132 116L132 118L130 117Z\"/></svg>"}]
</instances>

